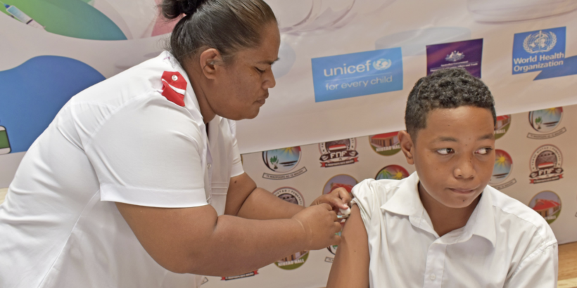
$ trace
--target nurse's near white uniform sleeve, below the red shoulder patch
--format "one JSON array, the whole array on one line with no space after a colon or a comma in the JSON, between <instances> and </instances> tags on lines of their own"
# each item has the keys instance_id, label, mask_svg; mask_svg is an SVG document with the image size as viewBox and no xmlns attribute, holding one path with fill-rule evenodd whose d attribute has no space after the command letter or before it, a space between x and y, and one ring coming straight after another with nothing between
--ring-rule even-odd
<instances>
[{"instance_id":1,"label":"nurse's near white uniform sleeve, below the red shoulder patch","mask_svg":"<svg viewBox=\"0 0 577 288\"><path fill-rule=\"evenodd\" d=\"M186 108L145 95L113 112L84 149L101 201L177 208L207 204L202 145Z\"/></svg>"}]
</instances>

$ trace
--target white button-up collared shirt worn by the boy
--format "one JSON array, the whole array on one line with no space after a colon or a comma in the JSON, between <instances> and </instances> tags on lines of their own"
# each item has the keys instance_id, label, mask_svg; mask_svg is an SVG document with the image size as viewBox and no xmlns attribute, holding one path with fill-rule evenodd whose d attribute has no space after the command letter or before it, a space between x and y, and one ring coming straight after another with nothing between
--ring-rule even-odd
<instances>
[{"instance_id":1,"label":"white button-up collared shirt worn by the boy","mask_svg":"<svg viewBox=\"0 0 577 288\"><path fill-rule=\"evenodd\" d=\"M370 287L557 287L557 240L542 216L487 186L467 225L438 237L418 183L415 172L353 188Z\"/></svg>"}]
</instances>

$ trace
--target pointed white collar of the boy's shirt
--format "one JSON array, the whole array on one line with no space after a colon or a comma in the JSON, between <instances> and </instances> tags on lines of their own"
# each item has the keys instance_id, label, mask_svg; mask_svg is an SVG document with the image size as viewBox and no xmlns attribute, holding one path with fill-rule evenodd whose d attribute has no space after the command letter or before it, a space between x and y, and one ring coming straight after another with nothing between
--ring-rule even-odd
<instances>
[{"instance_id":1,"label":"pointed white collar of the boy's shirt","mask_svg":"<svg viewBox=\"0 0 577 288\"><path fill-rule=\"evenodd\" d=\"M437 235L434 232L429 214L424 209L419 197L418 185L419 176L417 172L399 181L395 194L381 206L381 209L394 214L409 216L409 221L412 225ZM475 207L473 214L469 217L467 224L462 228L462 235L457 237L456 242L467 241L472 235L486 238L495 247L495 215L493 214L493 197L489 187L483 190L477 207Z\"/></svg>"}]
</instances>

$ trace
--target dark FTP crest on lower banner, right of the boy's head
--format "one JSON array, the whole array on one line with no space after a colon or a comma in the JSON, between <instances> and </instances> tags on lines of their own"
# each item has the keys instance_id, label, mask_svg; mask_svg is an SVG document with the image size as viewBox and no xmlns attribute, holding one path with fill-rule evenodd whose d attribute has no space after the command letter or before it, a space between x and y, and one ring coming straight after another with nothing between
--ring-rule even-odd
<instances>
[{"instance_id":1,"label":"dark FTP crest on lower banner, right of the boy's head","mask_svg":"<svg viewBox=\"0 0 577 288\"><path fill-rule=\"evenodd\" d=\"M531 184L556 181L563 178L563 156L554 145L543 145L531 156Z\"/></svg>"}]
</instances>

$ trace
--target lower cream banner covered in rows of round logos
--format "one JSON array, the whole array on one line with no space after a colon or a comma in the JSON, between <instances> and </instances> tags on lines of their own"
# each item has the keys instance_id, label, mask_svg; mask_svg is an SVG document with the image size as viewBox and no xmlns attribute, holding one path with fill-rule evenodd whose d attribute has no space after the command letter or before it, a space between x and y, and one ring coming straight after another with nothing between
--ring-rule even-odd
<instances>
[{"instance_id":1,"label":"lower cream banner covered in rows of round logos","mask_svg":"<svg viewBox=\"0 0 577 288\"><path fill-rule=\"evenodd\" d=\"M320 195L350 191L367 178L402 179L414 172L397 131L243 155L259 187L308 206ZM577 241L577 105L503 115L495 129L490 185L535 210L559 244ZM236 277L206 277L204 287L324 287L338 247L301 251Z\"/></svg>"}]
</instances>

